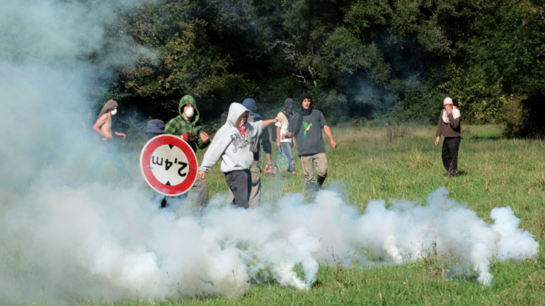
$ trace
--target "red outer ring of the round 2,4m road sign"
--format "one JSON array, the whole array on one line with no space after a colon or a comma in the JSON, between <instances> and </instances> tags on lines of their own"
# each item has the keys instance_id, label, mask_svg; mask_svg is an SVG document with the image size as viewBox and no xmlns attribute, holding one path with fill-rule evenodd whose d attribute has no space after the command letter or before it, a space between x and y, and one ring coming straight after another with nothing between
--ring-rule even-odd
<instances>
[{"instance_id":1,"label":"red outer ring of the round 2,4m road sign","mask_svg":"<svg viewBox=\"0 0 545 306\"><path fill-rule=\"evenodd\" d=\"M185 154L185 157L188 158L188 175L185 177L183 182L174 186L168 186L159 182L159 180L155 178L153 172L151 172L151 154L154 153L156 148L165 145L178 147ZM188 192L189 189L193 187L193 184L195 184L199 167L197 165L197 156L195 155L195 152L193 152L191 146L183 141L183 139L166 134L155 136L153 139L148 141L148 143L146 143L140 156L142 163L141 169L142 173L144 174L144 178L147 180L151 188L156 190L156 192L168 196L179 196L180 194L185 194L185 192Z\"/></svg>"}]
</instances>

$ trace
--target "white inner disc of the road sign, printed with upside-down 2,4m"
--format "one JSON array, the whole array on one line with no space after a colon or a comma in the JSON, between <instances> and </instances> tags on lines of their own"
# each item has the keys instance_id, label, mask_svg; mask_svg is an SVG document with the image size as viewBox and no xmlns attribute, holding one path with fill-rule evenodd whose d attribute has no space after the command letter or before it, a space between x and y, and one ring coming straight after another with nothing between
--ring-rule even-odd
<instances>
[{"instance_id":1,"label":"white inner disc of the road sign, printed with upside-down 2,4m","mask_svg":"<svg viewBox=\"0 0 545 306\"><path fill-rule=\"evenodd\" d=\"M151 153L151 172L167 186L183 182L189 172L187 156L177 146L163 145Z\"/></svg>"}]
</instances>

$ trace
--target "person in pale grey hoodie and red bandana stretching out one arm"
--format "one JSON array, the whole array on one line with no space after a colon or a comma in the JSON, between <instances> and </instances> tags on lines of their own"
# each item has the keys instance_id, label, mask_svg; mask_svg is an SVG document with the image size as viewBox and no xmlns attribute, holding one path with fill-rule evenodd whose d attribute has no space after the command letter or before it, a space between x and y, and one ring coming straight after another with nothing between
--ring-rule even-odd
<instances>
[{"instance_id":1,"label":"person in pale grey hoodie and red bandana stretching out one arm","mask_svg":"<svg viewBox=\"0 0 545 306\"><path fill-rule=\"evenodd\" d=\"M217 131L199 167L199 177L204 179L205 173L221 157L222 172L234 195L233 204L243 208L248 208L251 192L250 168L254 161L251 141L261 135L265 126L280 121L280 118L275 118L248 122L249 115L248 109L240 103L231 104L227 122Z\"/></svg>"}]
</instances>

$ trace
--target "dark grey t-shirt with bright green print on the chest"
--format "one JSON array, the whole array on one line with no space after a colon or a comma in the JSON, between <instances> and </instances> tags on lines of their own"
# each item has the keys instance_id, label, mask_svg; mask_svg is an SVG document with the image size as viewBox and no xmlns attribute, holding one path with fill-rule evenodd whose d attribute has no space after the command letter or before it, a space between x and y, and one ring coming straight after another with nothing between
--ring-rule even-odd
<instances>
[{"instance_id":1,"label":"dark grey t-shirt with bright green print on the chest","mask_svg":"<svg viewBox=\"0 0 545 306\"><path fill-rule=\"evenodd\" d=\"M295 125L301 116L298 112L289 121L288 131L295 131ZM323 144L322 128L328 125L326 118L319 110L312 110L308 116L303 116L303 123L299 134L295 137L299 156L326 153L326 146Z\"/></svg>"}]
</instances>

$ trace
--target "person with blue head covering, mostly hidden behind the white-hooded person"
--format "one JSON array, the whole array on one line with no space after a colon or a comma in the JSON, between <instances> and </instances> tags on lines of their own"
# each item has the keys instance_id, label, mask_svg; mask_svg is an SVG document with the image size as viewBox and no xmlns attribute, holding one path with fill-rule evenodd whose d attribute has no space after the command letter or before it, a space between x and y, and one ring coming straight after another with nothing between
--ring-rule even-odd
<instances>
[{"instance_id":1,"label":"person with blue head covering, mostly hidden behind the white-hooded person","mask_svg":"<svg viewBox=\"0 0 545 306\"><path fill-rule=\"evenodd\" d=\"M263 118L258 114L258 107L256 105L256 100L247 98L242 102L243 107L248 109L250 112L248 116L248 122L258 122L263 121ZM250 151L253 153L253 164L250 168L251 172L251 192L250 199L248 200L249 208L256 208L259 206L261 201L261 146L263 146L263 151L265 151L265 156L267 157L267 165L265 165L265 174L272 171L272 146L270 145L270 136L269 130L263 129L261 135L250 141ZM229 190L229 199L227 204L233 203L234 195Z\"/></svg>"}]
</instances>

